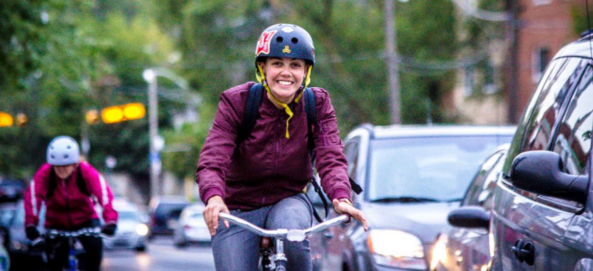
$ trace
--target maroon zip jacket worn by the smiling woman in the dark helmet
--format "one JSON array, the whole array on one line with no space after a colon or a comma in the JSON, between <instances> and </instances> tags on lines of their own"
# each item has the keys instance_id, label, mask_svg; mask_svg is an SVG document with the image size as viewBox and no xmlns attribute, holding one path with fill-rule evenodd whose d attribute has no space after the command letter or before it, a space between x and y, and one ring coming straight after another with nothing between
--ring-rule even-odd
<instances>
[{"instance_id":1,"label":"maroon zip jacket worn by the smiling woman in the dark helmet","mask_svg":"<svg viewBox=\"0 0 593 271\"><path fill-rule=\"evenodd\" d=\"M307 114L304 98L295 105L286 138L284 109L278 109L263 92L259 116L250 136L238 148L238 127L253 82L222 92L212 128L204 143L196 171L200 198L224 198L230 209L256 209L296 195L312 176L307 151ZM337 130L329 94L312 88L317 120L313 129L317 172L330 199L350 198L344 145Z\"/></svg>"}]
</instances>

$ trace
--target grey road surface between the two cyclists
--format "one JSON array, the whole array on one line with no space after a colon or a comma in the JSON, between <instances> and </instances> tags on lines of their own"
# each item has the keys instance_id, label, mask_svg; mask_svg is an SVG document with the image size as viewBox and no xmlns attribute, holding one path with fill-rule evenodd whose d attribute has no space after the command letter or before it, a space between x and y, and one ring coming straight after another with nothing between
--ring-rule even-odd
<instances>
[{"instance_id":1,"label":"grey road surface between the two cyclists","mask_svg":"<svg viewBox=\"0 0 593 271\"><path fill-rule=\"evenodd\" d=\"M157 238L148 244L146 252L132 250L104 251L101 269L105 271L148 270L214 270L210 246L190 246L178 249L167 238Z\"/></svg>"}]
</instances>

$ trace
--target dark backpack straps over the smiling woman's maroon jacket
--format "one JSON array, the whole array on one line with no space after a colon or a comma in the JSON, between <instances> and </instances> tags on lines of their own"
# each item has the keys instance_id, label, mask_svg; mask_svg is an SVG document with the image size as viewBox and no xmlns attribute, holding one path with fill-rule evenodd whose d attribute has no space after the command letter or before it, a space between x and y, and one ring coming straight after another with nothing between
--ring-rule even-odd
<instances>
[{"instance_id":1,"label":"dark backpack straps over the smiling woman's maroon jacket","mask_svg":"<svg viewBox=\"0 0 593 271\"><path fill-rule=\"evenodd\" d=\"M313 164L313 167L315 167L315 153L313 152L313 149L315 147L313 142L313 127L315 125L315 118L317 118L317 111L315 111L315 94L313 93L312 89L305 88L303 96L303 102L305 103L305 112L307 113L307 148L309 151L309 156L311 157L311 163ZM237 146L239 146L239 143L241 143L251 134L251 130L253 130L253 127L256 125L257 115L259 114L259 107L262 104L262 98L263 85L260 83L251 85L251 88L249 88L249 95L247 96L247 101L245 103L245 114L243 115L243 121L241 121L241 125L239 126L239 129L237 131L237 140L235 141L235 143L237 143ZM356 195L362 193L361 186L359 186L358 183L354 182L352 178L349 178L349 180L350 186L352 187L352 191L354 191ZM323 202L323 205L326 209L327 218L327 216L329 215L327 207L327 196L325 195L325 193L323 193L323 190L320 188L319 184L314 181L313 176L311 176L311 184L313 185L315 192L317 192L317 194L321 198L321 201ZM305 196L306 195L307 194L305 194ZM319 217L315 209L313 210L315 219L321 222L321 217Z\"/></svg>"}]
</instances>

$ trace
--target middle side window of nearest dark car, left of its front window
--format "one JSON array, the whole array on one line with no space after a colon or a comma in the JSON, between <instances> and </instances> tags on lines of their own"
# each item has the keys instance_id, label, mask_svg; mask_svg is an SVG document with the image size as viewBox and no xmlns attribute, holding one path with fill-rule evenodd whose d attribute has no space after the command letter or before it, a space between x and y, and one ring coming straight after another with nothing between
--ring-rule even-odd
<instances>
[{"instance_id":1,"label":"middle side window of nearest dark car, left of its front window","mask_svg":"<svg viewBox=\"0 0 593 271\"><path fill-rule=\"evenodd\" d=\"M586 60L573 57L559 60L550 68L549 77L538 86L537 92L540 92L540 95L535 101L531 119L528 120L521 152L547 148L553 133L554 121L560 114L563 101L585 67Z\"/></svg>"}]
</instances>

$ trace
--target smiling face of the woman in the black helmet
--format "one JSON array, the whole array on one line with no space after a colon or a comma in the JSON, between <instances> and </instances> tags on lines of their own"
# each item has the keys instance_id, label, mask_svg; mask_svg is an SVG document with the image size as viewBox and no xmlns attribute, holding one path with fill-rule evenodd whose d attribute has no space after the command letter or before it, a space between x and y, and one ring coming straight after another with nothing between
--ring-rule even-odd
<instances>
[{"instance_id":1,"label":"smiling face of the woman in the black helmet","mask_svg":"<svg viewBox=\"0 0 593 271\"><path fill-rule=\"evenodd\" d=\"M268 57L265 63L257 64L262 67L274 97L285 104L292 102L307 74L305 60Z\"/></svg>"}]
</instances>

